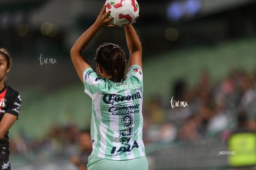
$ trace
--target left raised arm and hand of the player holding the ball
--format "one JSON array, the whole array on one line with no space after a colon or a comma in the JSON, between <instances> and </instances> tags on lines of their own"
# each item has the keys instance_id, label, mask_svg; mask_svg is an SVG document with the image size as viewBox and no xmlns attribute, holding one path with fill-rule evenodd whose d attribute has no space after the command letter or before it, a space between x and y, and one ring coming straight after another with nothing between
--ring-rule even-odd
<instances>
[{"instance_id":1,"label":"left raised arm and hand of the player holding the ball","mask_svg":"<svg viewBox=\"0 0 256 170\"><path fill-rule=\"evenodd\" d=\"M103 6L100 14L96 18L95 22L93 23L88 30L86 30L79 39L74 43L70 50L70 57L72 60L72 63L75 67L75 70L77 71L77 74L79 75L79 78L83 82L83 71L86 68L90 68L91 66L87 62L86 59L83 59L82 52L87 47L89 42L92 40L92 38L95 36L95 34L100 30L101 26L108 25L109 21L112 18L109 18L108 15L111 11L107 12L105 14L106 7Z\"/></svg>"}]
</instances>

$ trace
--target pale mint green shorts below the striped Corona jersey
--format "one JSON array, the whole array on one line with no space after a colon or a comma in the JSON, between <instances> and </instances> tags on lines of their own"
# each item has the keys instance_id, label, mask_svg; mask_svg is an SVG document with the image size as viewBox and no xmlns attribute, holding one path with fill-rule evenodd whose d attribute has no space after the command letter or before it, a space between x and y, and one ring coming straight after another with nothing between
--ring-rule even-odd
<instances>
[{"instance_id":1,"label":"pale mint green shorts below the striped Corona jersey","mask_svg":"<svg viewBox=\"0 0 256 170\"><path fill-rule=\"evenodd\" d=\"M148 170L148 161L146 156L135 158L132 160L116 161L106 160L104 158L99 158L95 155L90 155L88 158L87 168L88 170Z\"/></svg>"}]
</instances>

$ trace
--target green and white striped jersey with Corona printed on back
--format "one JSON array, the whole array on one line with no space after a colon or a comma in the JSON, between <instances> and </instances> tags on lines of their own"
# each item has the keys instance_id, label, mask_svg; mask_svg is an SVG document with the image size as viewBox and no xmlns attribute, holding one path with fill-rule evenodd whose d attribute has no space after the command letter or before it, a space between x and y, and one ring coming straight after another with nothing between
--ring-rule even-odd
<instances>
[{"instance_id":1,"label":"green and white striped jersey with Corona printed on back","mask_svg":"<svg viewBox=\"0 0 256 170\"><path fill-rule=\"evenodd\" d=\"M132 65L121 83L83 72L85 93L92 98L92 154L109 160L145 156L142 141L142 69Z\"/></svg>"}]
</instances>

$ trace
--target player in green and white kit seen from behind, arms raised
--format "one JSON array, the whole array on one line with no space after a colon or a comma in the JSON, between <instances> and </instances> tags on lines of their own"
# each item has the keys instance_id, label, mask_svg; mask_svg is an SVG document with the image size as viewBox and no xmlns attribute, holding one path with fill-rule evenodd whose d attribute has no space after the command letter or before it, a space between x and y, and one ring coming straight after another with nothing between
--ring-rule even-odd
<instances>
[{"instance_id":1,"label":"player in green and white kit seen from behind, arms raised","mask_svg":"<svg viewBox=\"0 0 256 170\"><path fill-rule=\"evenodd\" d=\"M96 72L82 52L103 25L109 25L103 6L93 25L75 42L71 60L85 93L92 98L93 151L88 169L148 169L142 140L142 46L132 25L124 26L130 52L126 74L124 51L114 43L96 49Z\"/></svg>"}]
</instances>

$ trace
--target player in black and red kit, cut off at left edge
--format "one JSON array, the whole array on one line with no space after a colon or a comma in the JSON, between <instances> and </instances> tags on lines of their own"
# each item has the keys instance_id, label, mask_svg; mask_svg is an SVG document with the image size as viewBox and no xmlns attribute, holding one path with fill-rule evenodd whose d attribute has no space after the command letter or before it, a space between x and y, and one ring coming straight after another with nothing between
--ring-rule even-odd
<instances>
[{"instance_id":1,"label":"player in black and red kit, cut off at left edge","mask_svg":"<svg viewBox=\"0 0 256 170\"><path fill-rule=\"evenodd\" d=\"M4 84L12 64L11 55L0 48L0 169L11 169L8 131L19 116L19 92Z\"/></svg>"}]
</instances>

